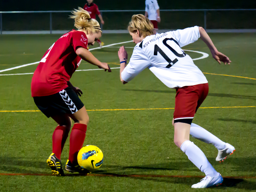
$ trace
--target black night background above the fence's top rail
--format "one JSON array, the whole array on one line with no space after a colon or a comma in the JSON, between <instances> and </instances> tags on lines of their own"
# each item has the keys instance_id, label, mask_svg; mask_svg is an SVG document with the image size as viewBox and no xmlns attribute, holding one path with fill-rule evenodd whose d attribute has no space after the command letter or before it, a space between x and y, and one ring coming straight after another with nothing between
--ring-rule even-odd
<instances>
[{"instance_id":1,"label":"black night background above the fence's top rail","mask_svg":"<svg viewBox=\"0 0 256 192\"><path fill-rule=\"evenodd\" d=\"M0 11L69 11L78 6L83 7L86 0L1 0ZM94 0L100 10L145 9L144 0ZM256 0L158 0L161 9L253 9Z\"/></svg>"}]
</instances>

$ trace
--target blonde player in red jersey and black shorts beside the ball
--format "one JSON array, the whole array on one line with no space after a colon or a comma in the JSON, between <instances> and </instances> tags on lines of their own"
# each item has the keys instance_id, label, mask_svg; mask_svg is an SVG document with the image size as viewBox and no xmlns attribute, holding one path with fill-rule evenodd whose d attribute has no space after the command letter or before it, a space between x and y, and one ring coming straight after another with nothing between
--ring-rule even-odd
<instances>
[{"instance_id":1,"label":"blonde player in red jersey and black shorts beside the ball","mask_svg":"<svg viewBox=\"0 0 256 192\"><path fill-rule=\"evenodd\" d=\"M32 77L31 92L36 106L58 126L52 135L52 154L47 159L53 175L65 176L60 155L68 137L71 119L75 124L70 134L69 157L66 163L68 172L87 174L88 171L77 166L77 153L83 147L89 117L82 101L78 98L82 91L74 87L69 79L82 59L111 72L107 63L97 60L87 50L101 36L100 25L91 19L87 11L79 7L72 12L78 30L61 36L45 52Z\"/></svg>"}]
</instances>

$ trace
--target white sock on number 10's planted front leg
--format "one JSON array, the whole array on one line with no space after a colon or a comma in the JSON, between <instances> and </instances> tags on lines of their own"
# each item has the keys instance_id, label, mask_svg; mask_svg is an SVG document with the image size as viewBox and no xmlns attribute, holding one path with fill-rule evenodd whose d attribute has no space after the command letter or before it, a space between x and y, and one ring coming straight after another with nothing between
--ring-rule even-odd
<instances>
[{"instance_id":1,"label":"white sock on number 10's planted front leg","mask_svg":"<svg viewBox=\"0 0 256 192\"><path fill-rule=\"evenodd\" d=\"M180 146L181 151L183 151L188 159L196 165L201 172L204 172L206 176L215 177L218 175L218 172L212 167L212 165L207 160L203 151L198 148L193 142L187 140L182 143Z\"/></svg>"}]
</instances>

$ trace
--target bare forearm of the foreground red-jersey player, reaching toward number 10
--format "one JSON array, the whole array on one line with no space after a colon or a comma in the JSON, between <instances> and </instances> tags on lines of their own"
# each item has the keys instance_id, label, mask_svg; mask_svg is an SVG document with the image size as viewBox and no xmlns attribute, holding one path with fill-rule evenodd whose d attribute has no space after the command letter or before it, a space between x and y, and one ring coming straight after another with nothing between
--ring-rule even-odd
<instances>
[{"instance_id":1,"label":"bare forearm of the foreground red-jersey player, reaching toward number 10","mask_svg":"<svg viewBox=\"0 0 256 192\"><path fill-rule=\"evenodd\" d=\"M100 62L96 57L93 56L93 54L85 49L84 47L79 47L76 49L76 54L81 57L81 59L87 61L88 63L91 63L92 65L96 65L99 68L108 70L108 72L111 72L110 67L108 66L108 63L102 63Z\"/></svg>"}]
</instances>

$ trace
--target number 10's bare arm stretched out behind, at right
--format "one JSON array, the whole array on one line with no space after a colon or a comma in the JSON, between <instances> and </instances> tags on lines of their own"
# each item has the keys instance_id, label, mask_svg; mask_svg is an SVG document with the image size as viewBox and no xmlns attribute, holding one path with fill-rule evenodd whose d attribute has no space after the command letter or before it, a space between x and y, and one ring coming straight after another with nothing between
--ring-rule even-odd
<instances>
[{"instance_id":1,"label":"number 10's bare arm stretched out behind, at right","mask_svg":"<svg viewBox=\"0 0 256 192\"><path fill-rule=\"evenodd\" d=\"M214 46L214 44L212 43L211 38L209 37L209 35L206 33L206 31L204 30L204 28L199 27L199 33L200 33L200 38L204 41L204 43L209 47L211 53L212 53L212 57L218 61L218 63L220 64L221 62L223 62L225 65L228 63L228 65L230 65L231 61L228 59L228 57L226 55L224 55L223 53L219 52L217 50L217 48Z\"/></svg>"}]
</instances>

